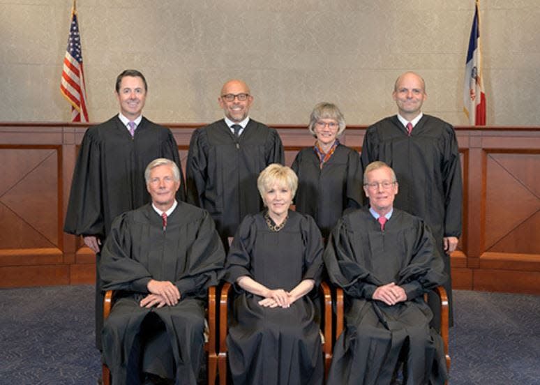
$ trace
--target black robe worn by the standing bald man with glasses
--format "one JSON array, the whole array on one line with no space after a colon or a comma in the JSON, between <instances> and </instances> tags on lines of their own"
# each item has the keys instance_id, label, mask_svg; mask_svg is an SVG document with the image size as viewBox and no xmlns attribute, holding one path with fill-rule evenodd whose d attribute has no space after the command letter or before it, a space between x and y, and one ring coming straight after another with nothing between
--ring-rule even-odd
<instances>
[{"instance_id":1,"label":"black robe worn by the standing bald man with glasses","mask_svg":"<svg viewBox=\"0 0 540 385\"><path fill-rule=\"evenodd\" d=\"M284 159L277 131L253 119L239 138L224 119L199 128L193 131L186 165L188 202L206 209L227 239L244 216L262 210L260 172Z\"/></svg>"}]
</instances>

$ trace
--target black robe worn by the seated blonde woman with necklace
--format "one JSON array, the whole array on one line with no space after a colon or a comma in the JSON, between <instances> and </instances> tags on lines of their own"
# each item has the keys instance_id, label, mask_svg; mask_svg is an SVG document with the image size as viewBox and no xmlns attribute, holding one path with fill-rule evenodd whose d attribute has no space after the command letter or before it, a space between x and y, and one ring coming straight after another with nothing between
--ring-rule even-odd
<instances>
[{"instance_id":1,"label":"black robe worn by the seated blonde woman with necklace","mask_svg":"<svg viewBox=\"0 0 540 385\"><path fill-rule=\"evenodd\" d=\"M322 239L313 218L289 211L279 232L264 213L246 216L227 255L226 280L248 275L290 291L301 280L320 283ZM264 308L260 296L235 285L227 348L234 384L322 384L324 366L315 305L306 294L290 308Z\"/></svg>"}]
</instances>

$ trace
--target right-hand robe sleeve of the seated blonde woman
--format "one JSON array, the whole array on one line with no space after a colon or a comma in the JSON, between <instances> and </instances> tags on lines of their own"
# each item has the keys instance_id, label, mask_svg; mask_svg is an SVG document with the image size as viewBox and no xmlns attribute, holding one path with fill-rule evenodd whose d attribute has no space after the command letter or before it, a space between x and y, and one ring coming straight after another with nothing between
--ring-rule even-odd
<instances>
[{"instance_id":1,"label":"right-hand robe sleeve of the seated blonde woman","mask_svg":"<svg viewBox=\"0 0 540 385\"><path fill-rule=\"evenodd\" d=\"M322 279L322 236L315 220L310 216L304 218L301 226L302 241L305 247L302 280L315 280L315 287L317 287Z\"/></svg>"}]
</instances>

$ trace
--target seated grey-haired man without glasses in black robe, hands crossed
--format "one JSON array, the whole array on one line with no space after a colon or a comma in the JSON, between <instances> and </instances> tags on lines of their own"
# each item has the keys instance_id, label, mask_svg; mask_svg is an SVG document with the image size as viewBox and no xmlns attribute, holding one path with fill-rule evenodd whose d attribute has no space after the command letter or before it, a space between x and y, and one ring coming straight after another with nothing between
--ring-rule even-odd
<instances>
[{"instance_id":1,"label":"seated grey-haired man without glasses in black robe, hands crossed","mask_svg":"<svg viewBox=\"0 0 540 385\"><path fill-rule=\"evenodd\" d=\"M196 384L207 287L218 283L225 252L207 211L175 199L174 162L153 160L145 178L152 203L117 217L102 251L103 289L118 291L103 361L113 384L137 384L143 372Z\"/></svg>"}]
</instances>

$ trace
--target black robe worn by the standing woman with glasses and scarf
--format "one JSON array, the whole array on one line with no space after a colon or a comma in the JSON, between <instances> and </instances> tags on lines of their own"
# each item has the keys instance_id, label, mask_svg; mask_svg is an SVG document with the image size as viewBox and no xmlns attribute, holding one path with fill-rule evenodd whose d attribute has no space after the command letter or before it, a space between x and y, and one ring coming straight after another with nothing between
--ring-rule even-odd
<instances>
[{"instance_id":1,"label":"black robe worn by the standing woman with glasses and scarf","mask_svg":"<svg viewBox=\"0 0 540 385\"><path fill-rule=\"evenodd\" d=\"M308 147L299 151L291 167L298 175L296 210L312 216L324 238L346 209L360 208L361 164L354 149L339 144L321 169L319 157Z\"/></svg>"}]
</instances>

